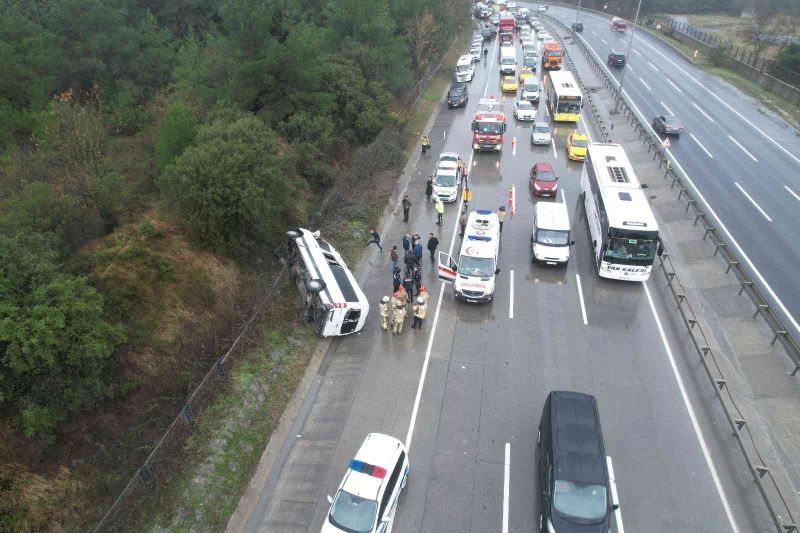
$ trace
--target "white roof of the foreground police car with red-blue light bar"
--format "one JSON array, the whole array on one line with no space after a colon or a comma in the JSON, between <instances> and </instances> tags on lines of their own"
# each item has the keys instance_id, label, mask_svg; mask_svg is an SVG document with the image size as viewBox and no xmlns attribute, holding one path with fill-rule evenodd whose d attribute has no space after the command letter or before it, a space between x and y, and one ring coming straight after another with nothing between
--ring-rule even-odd
<instances>
[{"instance_id":1,"label":"white roof of the foreground police car with red-blue light bar","mask_svg":"<svg viewBox=\"0 0 800 533\"><path fill-rule=\"evenodd\" d=\"M380 488L391 474L401 451L405 451L405 447L398 439L382 433L370 433L350 462L342 490L377 500ZM362 465L366 465L366 468ZM382 468L383 475L368 473L370 466Z\"/></svg>"}]
</instances>

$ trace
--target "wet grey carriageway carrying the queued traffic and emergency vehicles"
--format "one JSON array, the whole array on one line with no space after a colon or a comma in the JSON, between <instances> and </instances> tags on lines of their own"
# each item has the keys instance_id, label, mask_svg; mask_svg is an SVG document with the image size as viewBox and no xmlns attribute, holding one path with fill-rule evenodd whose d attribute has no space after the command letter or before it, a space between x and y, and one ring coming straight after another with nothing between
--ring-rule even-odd
<instances>
[{"instance_id":1,"label":"wet grey carriageway carrying the queued traffic and emergency vehicles","mask_svg":"<svg viewBox=\"0 0 800 533\"><path fill-rule=\"evenodd\" d=\"M467 109L443 110L434 124L430 137L435 153L454 150L469 157L469 123L478 96L483 87L499 95L496 67L478 65L477 71ZM496 208L505 202L511 185L517 190L518 211L507 219L503 232L496 301L484 306L456 303L452 287L440 288L433 269L427 269L431 302L435 304L442 294L441 307L396 531L501 531L504 508L508 531L535 529L536 428L544 397L555 388L598 397L607 452L618 479L621 516L629 531L730 530L653 318L653 309L666 317L670 306L653 282L651 309L643 285L597 277L578 202L582 165L568 162L564 151L566 135L574 126L556 125L555 152L551 147L533 147L530 125L514 121L511 102L506 103L509 129L502 155L476 154L470 173L473 207ZM540 104L540 115L544 107ZM514 137L516 155L511 150ZM448 249L453 242L457 253L454 207L447 207L445 225L436 228L432 208L420 198L432 161L432 157L423 160L427 166L411 186L412 224L394 222L384 241L387 237L396 241L408 228L439 231L441 248ZM577 242L565 269L530 263L535 200L528 193L527 176L536 161L554 164L564 191L557 201L567 202L573 221ZM386 258L374 254L365 292L376 301L388 285ZM513 318L509 318L512 302ZM583 322L584 309L588 326ZM432 305L424 333L406 331L395 337L376 331L373 313L362 335L335 341L320 395L301 433L290 436L288 459L275 472L274 490L251 517L249 531L318 531L328 508L325 495L335 491L364 436L370 431L399 438L407 434L434 316ZM691 376L693 369L684 361L692 358L683 351L680 330L676 335L666 319L663 327L679 371ZM751 488L752 483L735 466L738 458L727 455L717 442L714 426L719 421L713 408L710 414L706 411L705 395L691 378L686 387L731 513L741 531L761 529L758 502L742 488Z\"/></svg>"}]
</instances>

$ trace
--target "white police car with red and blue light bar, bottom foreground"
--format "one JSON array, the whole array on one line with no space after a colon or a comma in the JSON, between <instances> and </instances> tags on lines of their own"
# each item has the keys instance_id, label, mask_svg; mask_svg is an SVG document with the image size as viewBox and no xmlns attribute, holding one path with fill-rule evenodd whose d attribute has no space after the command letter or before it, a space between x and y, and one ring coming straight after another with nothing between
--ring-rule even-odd
<instances>
[{"instance_id":1,"label":"white police car with red and blue light bar, bottom foreground","mask_svg":"<svg viewBox=\"0 0 800 533\"><path fill-rule=\"evenodd\" d=\"M331 508L321 533L389 531L408 469L402 442L382 433L367 435L336 496L328 496Z\"/></svg>"}]
</instances>

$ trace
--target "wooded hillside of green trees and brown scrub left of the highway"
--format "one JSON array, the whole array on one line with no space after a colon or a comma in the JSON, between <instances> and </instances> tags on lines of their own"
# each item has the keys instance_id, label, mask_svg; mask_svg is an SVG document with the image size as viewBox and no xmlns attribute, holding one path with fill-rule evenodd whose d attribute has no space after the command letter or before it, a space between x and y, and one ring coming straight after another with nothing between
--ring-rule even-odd
<instances>
[{"instance_id":1,"label":"wooded hillside of green trees and brown scrub left of the highway","mask_svg":"<svg viewBox=\"0 0 800 533\"><path fill-rule=\"evenodd\" d=\"M360 146L399 130L397 102L468 13L465 0L2 3L0 530L79 514L82 454L150 445L162 429L138 413L207 368L192 342L224 340L243 282Z\"/></svg>"}]
</instances>

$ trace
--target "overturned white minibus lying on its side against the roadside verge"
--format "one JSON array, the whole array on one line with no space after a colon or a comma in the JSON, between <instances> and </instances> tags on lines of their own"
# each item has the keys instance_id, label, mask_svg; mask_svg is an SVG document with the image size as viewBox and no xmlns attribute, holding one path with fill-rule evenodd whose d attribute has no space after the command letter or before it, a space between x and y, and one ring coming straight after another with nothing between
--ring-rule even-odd
<instances>
[{"instance_id":1,"label":"overturned white minibus lying on its side against the roadside verge","mask_svg":"<svg viewBox=\"0 0 800 533\"><path fill-rule=\"evenodd\" d=\"M289 237L289 276L300 291L303 317L322 337L349 335L364 327L369 302L336 249L319 231L298 228Z\"/></svg>"}]
</instances>

